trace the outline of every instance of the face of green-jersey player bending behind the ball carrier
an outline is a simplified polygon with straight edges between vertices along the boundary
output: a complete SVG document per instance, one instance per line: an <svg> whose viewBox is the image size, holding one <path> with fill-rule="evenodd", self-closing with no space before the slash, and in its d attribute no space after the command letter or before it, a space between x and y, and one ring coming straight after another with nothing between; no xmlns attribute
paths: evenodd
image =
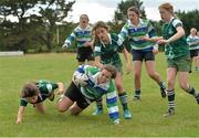
<svg viewBox="0 0 199 138"><path fill-rule="evenodd" d="M106 42L108 40L108 32L105 28L97 28L95 33L101 41Z"/></svg>

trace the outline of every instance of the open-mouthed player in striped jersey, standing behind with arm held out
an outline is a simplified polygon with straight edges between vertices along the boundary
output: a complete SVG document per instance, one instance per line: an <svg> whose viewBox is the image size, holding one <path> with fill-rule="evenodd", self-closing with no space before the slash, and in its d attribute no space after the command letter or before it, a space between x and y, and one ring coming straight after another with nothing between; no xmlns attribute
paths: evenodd
<svg viewBox="0 0 199 138"><path fill-rule="evenodd" d="M70 36L66 38L62 49L66 49L73 41L77 44L76 60L82 65L87 60L88 64L93 64L93 43L92 43L92 26L88 24L87 14L81 14L80 24L74 29Z"/></svg>

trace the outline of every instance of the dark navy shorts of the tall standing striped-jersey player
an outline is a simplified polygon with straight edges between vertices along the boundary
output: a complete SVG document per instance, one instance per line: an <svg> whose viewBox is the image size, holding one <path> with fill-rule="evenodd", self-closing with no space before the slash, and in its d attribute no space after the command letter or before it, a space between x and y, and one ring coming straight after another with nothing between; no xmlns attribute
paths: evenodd
<svg viewBox="0 0 199 138"><path fill-rule="evenodd" d="M132 50L133 61L155 61L153 51Z"/></svg>

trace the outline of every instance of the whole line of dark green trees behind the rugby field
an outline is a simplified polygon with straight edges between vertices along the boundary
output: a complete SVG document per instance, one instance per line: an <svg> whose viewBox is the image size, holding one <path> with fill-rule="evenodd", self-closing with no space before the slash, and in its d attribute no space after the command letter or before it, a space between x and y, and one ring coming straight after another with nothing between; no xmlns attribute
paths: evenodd
<svg viewBox="0 0 199 138"><path fill-rule="evenodd" d="M73 10L74 1L69 0L1 0L0 1L0 51L23 51L25 53L61 52L65 36L77 25L64 21ZM111 31L118 33L126 22L129 6L140 10L146 18L142 0L125 0L117 4ZM157 6L158 7L158 6ZM97 13L96 13L97 14ZM199 29L199 10L177 11L184 22L187 35L195 26ZM9 17L17 19L11 21ZM151 21L157 34L161 35L161 21ZM59 33L59 36L57 36ZM59 39L59 40L57 40ZM69 51L75 49L75 43Z"/></svg>

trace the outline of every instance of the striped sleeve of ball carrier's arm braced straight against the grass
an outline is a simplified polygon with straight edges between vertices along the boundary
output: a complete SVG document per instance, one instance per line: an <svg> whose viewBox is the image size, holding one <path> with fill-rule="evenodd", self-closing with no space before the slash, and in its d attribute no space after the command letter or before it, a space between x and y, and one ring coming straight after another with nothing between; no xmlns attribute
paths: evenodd
<svg viewBox="0 0 199 138"><path fill-rule="evenodd" d="M106 94L106 105L112 121L118 119L117 93L113 81L111 81L108 92Z"/></svg>

